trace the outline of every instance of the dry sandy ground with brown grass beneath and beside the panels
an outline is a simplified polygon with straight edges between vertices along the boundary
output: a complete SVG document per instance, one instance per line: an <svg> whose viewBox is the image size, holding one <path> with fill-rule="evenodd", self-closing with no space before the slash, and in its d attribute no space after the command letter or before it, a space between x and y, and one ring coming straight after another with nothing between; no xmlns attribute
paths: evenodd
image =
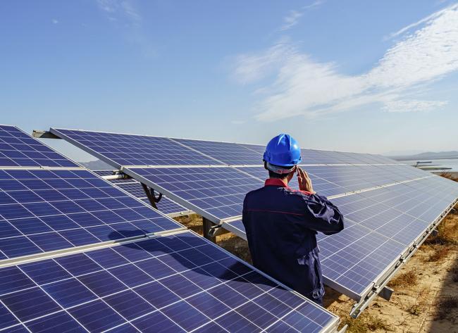
<svg viewBox="0 0 458 333"><path fill-rule="evenodd" d="M202 234L202 218L176 218ZM374 299L357 320L349 318L354 301L326 288L324 305L340 316L347 332L458 333L458 205L388 284L390 301ZM218 245L251 262L247 242L233 234L217 237Z"/></svg>

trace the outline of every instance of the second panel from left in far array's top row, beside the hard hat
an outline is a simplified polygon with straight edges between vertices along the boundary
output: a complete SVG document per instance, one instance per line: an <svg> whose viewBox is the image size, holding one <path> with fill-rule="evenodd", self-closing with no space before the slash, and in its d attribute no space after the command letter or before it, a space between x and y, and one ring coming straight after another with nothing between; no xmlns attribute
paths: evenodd
<svg viewBox="0 0 458 333"><path fill-rule="evenodd" d="M262 154L245 148L242 144L190 139L173 140L229 165L259 165L263 163Z"/></svg>

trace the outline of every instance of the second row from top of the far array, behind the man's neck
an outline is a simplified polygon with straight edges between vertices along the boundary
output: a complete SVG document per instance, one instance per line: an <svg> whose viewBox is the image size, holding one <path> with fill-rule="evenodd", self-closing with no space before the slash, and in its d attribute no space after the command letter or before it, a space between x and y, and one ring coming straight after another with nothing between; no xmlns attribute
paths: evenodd
<svg viewBox="0 0 458 333"><path fill-rule="evenodd" d="M314 190L336 196L381 185L429 177L428 172L407 165L322 165L305 168ZM262 187L268 172L262 167L127 168L132 178L159 191L166 190L182 206L207 214L213 222L242 214L245 194ZM140 179L141 178L141 179ZM290 187L297 189L297 178ZM191 206L192 205L192 206Z"/></svg>

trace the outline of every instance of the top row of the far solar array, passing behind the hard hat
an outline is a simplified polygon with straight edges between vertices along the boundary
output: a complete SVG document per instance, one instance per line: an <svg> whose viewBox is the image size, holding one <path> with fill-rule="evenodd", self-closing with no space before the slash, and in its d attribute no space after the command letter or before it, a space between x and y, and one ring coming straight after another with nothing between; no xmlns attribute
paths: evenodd
<svg viewBox="0 0 458 333"><path fill-rule="evenodd" d="M51 128L106 163L121 165L262 165L265 146ZM304 164L399 164L368 153L302 149Z"/></svg>

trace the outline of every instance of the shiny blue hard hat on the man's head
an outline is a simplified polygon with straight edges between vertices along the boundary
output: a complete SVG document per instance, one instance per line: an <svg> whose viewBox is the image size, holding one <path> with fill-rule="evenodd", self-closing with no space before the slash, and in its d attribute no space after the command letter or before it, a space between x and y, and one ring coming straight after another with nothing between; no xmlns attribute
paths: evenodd
<svg viewBox="0 0 458 333"><path fill-rule="evenodd" d="M264 161L273 165L292 167L302 161L299 144L290 134L279 134L268 142Z"/></svg>

